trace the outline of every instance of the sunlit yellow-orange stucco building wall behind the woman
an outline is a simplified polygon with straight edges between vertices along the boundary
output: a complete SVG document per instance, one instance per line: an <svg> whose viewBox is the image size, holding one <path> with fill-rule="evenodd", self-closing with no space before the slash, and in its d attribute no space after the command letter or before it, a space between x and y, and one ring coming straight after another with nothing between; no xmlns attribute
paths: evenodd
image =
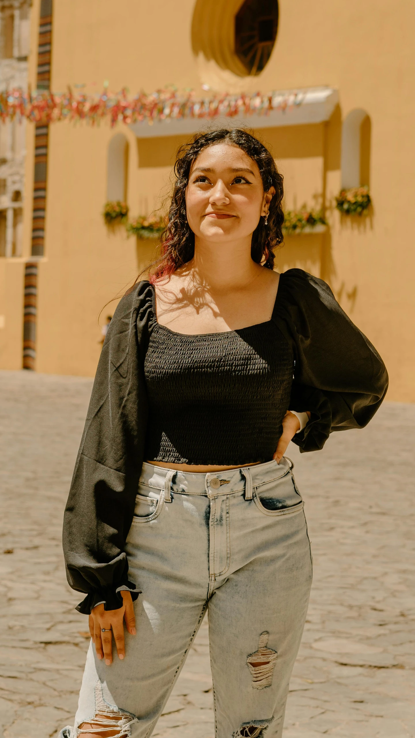
<svg viewBox="0 0 415 738"><path fill-rule="evenodd" d="M216 0L220 5L225 0ZM38 15L36 0L33 17ZM389 399L415 401L415 256L411 246L414 201L415 4L412 0L280 0L278 38L261 75L242 80L196 58L191 46L193 0L55 0L52 88L86 83L98 92L128 86L151 92L167 83L179 89L210 75L223 89L248 91L327 84L340 106L328 123L258 131L274 152L286 182L287 207L324 196L330 229L287 238L278 268L301 266L326 279L351 319L385 359ZM35 33L35 31L34 31ZM35 55L31 56L34 80ZM222 76L221 76L222 75ZM371 118L370 184L374 210L361 221L333 210L340 189L341 123L354 108ZM254 124L254 119L253 119ZM30 205L31 126L27 126ZM129 142L131 215L157 207L166 193L174 151L182 137L140 139L129 128L56 124L49 143L46 256L39 264L40 371L92 375L100 351L97 317L137 272L134 239L111 234L101 218L106 199L106 150L122 131ZM25 209L25 254L30 252L30 207ZM150 247L151 249L151 247ZM140 246L143 265L148 246ZM0 260L0 365L21 365L23 266ZM10 261L10 260L8 260ZM12 276L13 274L13 276ZM13 281L14 280L14 281ZM13 296L5 291L13 287ZM114 309L105 308L106 314Z"/></svg>

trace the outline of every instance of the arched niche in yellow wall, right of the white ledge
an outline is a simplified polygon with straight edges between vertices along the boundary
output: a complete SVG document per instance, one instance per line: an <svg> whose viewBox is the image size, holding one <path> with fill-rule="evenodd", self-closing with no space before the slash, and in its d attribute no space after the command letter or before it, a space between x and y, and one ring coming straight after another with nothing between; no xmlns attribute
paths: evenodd
<svg viewBox="0 0 415 738"><path fill-rule="evenodd" d="M370 184L371 120L366 110L356 108L343 121L341 143L341 184L360 187Z"/></svg>

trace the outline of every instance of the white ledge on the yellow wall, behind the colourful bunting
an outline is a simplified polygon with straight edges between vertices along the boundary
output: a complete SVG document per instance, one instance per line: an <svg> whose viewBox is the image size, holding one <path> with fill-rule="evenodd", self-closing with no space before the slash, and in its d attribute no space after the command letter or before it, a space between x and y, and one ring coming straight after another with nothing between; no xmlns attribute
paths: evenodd
<svg viewBox="0 0 415 738"><path fill-rule="evenodd" d="M230 97L233 97L230 95ZM239 97L235 95L235 97ZM272 93L272 105L278 106L287 101L285 109L276 108L268 114L253 113L235 117L218 116L214 118L166 118L156 120L152 125L147 120L130 123L129 127L137 138L157 136L180 136L194 134L212 125L215 128L275 128L281 125L306 125L307 123L323 123L329 120L338 102L338 92L332 87L309 87L307 89L282 90ZM292 100L290 104L290 100Z"/></svg>

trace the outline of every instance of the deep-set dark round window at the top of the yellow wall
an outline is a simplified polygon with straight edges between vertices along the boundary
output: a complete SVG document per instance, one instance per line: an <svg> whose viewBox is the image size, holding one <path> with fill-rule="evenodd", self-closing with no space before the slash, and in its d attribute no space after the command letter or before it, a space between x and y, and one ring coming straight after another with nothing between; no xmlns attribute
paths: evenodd
<svg viewBox="0 0 415 738"><path fill-rule="evenodd" d="M193 53L238 77L267 64L278 27L278 0L196 0Z"/></svg>

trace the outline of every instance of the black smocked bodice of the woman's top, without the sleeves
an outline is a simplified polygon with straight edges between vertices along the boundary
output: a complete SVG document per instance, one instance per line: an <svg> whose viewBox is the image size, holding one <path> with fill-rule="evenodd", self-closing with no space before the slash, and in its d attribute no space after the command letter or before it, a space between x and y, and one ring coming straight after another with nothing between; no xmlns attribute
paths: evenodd
<svg viewBox="0 0 415 738"><path fill-rule="evenodd" d="M144 361L145 458L229 466L270 461L293 371L292 346L272 320L196 335L154 322Z"/></svg>

